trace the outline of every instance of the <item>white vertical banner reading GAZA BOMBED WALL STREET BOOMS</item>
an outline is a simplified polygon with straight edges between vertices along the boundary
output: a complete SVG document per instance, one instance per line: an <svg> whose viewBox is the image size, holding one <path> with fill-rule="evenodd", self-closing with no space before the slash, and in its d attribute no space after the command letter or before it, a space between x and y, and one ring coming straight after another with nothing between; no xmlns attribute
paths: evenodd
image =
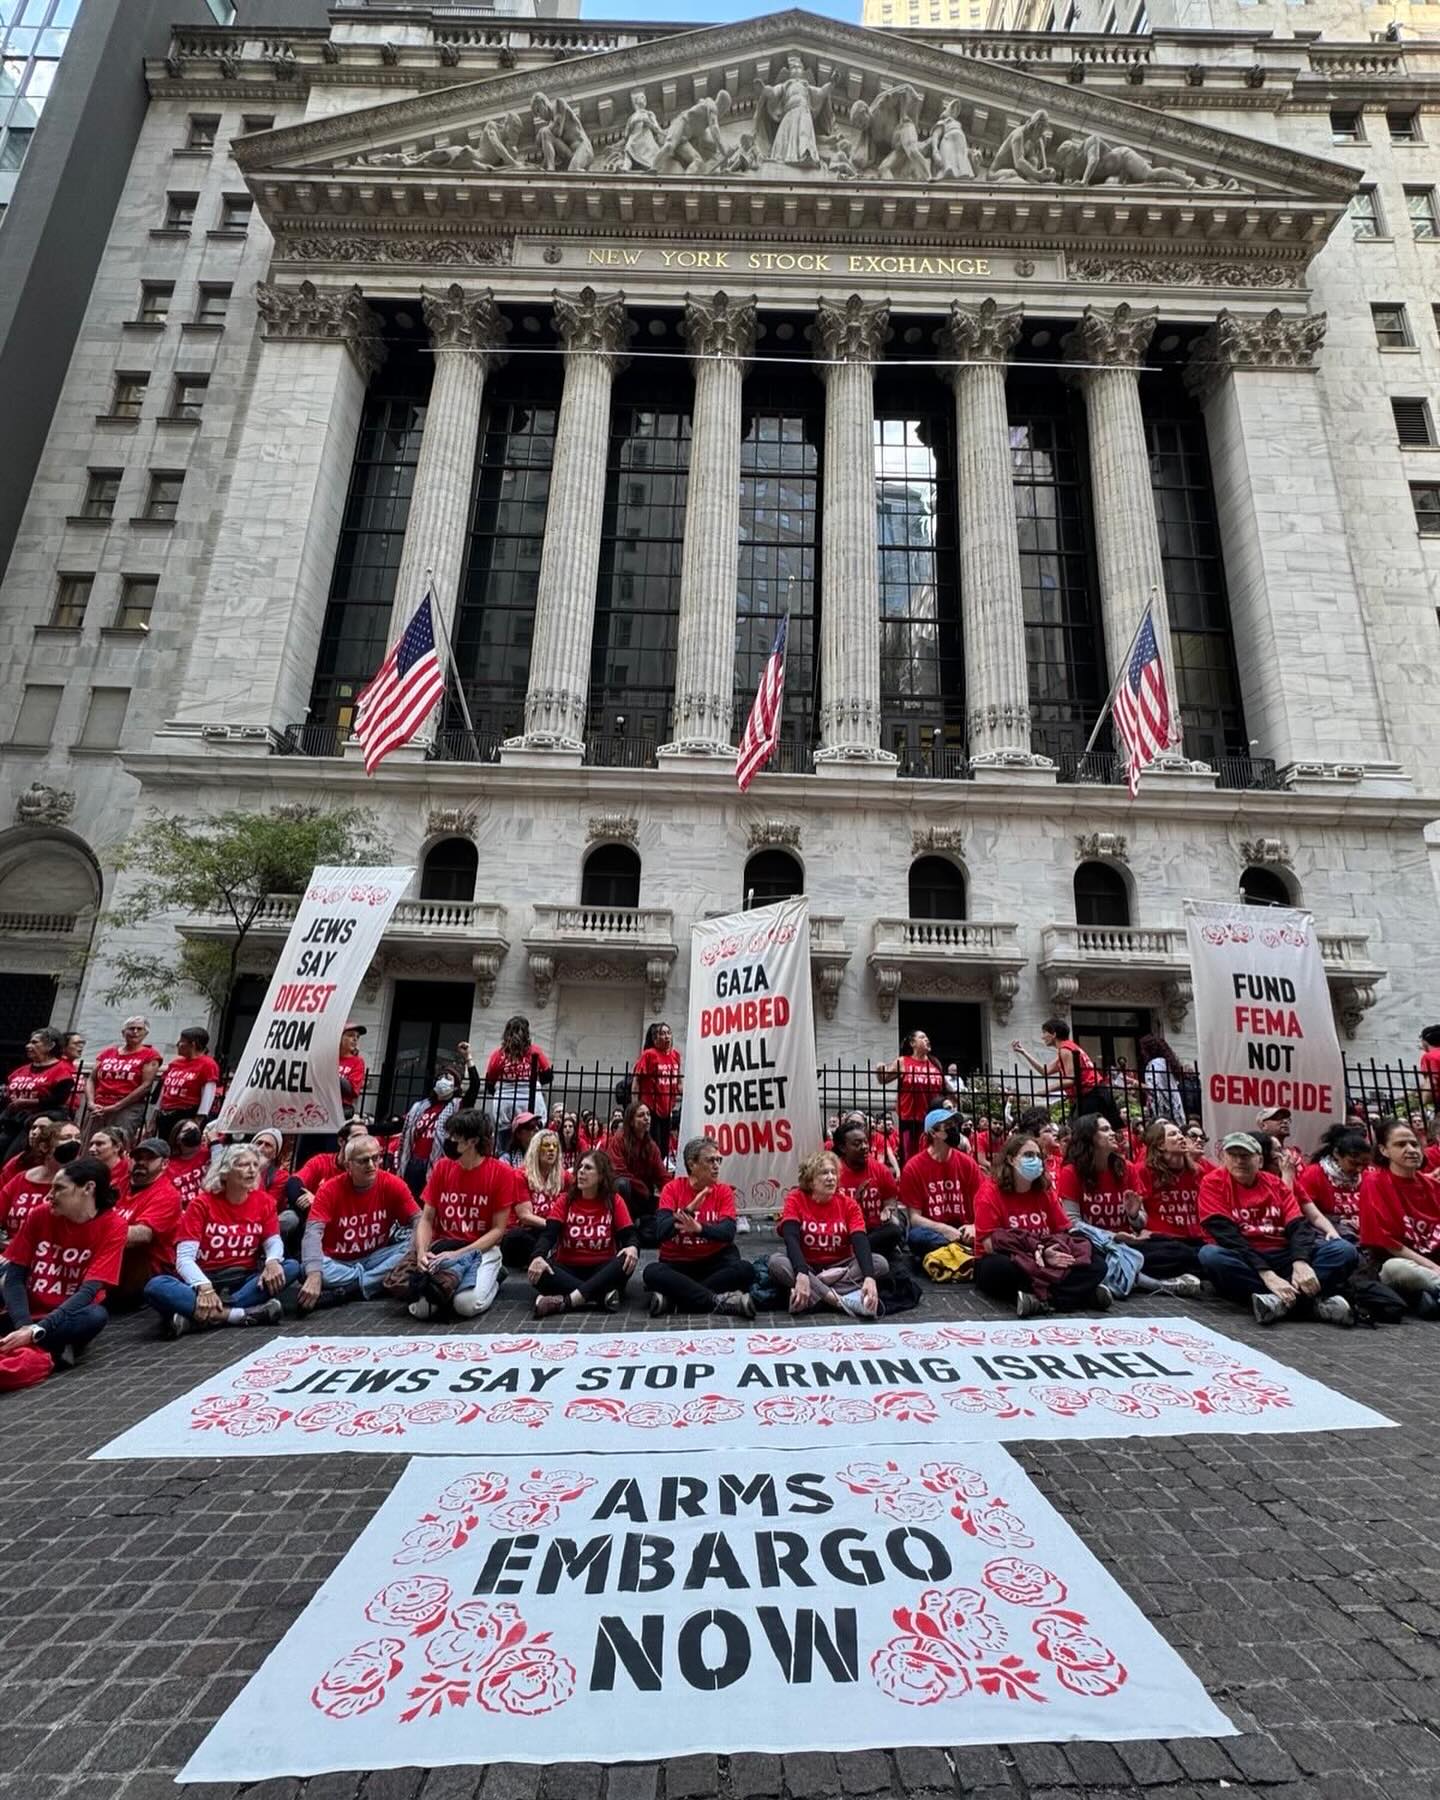
<svg viewBox="0 0 1440 1800"><path fill-rule="evenodd" d="M700 1136L745 1211L776 1206L821 1145L805 898L691 927L680 1143Z"/></svg>

